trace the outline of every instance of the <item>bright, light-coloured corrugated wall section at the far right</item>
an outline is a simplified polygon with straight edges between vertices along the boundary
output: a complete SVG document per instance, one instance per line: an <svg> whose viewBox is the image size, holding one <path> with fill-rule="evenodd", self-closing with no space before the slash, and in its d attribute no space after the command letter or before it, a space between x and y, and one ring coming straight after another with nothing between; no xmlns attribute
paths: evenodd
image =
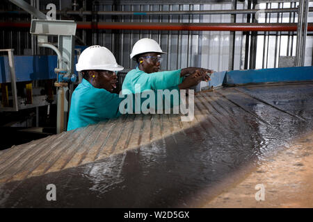
<svg viewBox="0 0 313 222"><path fill-rule="evenodd" d="M297 8L296 1L259 3L260 9L265 8ZM313 2L309 3L313 7ZM261 13L259 23L294 23L298 22L297 13ZM313 12L309 12L307 22L313 22ZM257 69L278 67L280 56L296 56L296 32L258 32L257 34L256 67ZM313 51L312 32L307 33L305 47L305 66L312 65Z"/></svg>

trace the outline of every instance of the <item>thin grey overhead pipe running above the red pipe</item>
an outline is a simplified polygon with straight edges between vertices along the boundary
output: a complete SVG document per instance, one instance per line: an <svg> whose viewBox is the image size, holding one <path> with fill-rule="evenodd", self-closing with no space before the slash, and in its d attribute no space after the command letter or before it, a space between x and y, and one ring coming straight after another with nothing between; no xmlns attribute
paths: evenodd
<svg viewBox="0 0 313 222"><path fill-rule="evenodd" d="M42 10L47 12L48 10ZM309 8L313 12L313 7ZM57 10L58 15L237 15L255 14L260 9L236 9L236 10L186 10L186 11L90 11L90 10ZM262 9L262 13L289 13L298 12L298 8L268 8ZM24 10L7 11L0 10L0 13L19 14L27 13Z"/></svg>

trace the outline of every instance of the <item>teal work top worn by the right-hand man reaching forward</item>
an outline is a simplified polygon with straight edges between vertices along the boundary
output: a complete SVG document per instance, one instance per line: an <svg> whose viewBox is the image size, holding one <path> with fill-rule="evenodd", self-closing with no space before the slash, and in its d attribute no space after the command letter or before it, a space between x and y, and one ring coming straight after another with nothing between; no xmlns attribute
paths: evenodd
<svg viewBox="0 0 313 222"><path fill-rule="evenodd" d="M145 90L170 89L182 83L181 69L174 71L159 71L147 74L138 67L129 71L122 85L122 94L138 93L136 84L140 84L140 92Z"/></svg>

